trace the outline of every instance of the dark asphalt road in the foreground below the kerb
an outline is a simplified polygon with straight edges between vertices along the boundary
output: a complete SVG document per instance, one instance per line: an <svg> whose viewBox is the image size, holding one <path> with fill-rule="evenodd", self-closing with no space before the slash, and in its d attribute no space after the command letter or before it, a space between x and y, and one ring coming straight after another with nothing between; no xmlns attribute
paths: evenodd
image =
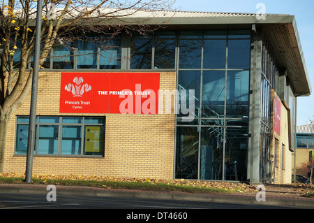
<svg viewBox="0 0 314 223"><path fill-rule="evenodd" d="M47 201L46 194L0 193L0 210L3 209L280 209L285 207L213 203L198 201L168 201L103 196L58 195L57 201Z"/></svg>

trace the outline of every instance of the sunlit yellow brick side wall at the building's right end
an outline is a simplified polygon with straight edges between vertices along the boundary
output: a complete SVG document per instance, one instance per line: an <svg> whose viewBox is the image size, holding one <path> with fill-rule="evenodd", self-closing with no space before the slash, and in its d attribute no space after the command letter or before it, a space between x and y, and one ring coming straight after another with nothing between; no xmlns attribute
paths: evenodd
<svg viewBox="0 0 314 223"><path fill-rule="evenodd" d="M291 175L292 175L292 152L289 150L289 129L288 129L288 110L281 101L281 131L280 135L274 131L274 96L278 95L274 91L271 90L271 161L275 161L275 143L278 143L278 164L274 166L272 164L272 175L273 179L275 179L274 183L278 184L288 184L291 183ZM278 141L276 141L276 139ZM282 145L285 145L285 159L284 159L284 168L283 168L283 159L282 159Z"/></svg>

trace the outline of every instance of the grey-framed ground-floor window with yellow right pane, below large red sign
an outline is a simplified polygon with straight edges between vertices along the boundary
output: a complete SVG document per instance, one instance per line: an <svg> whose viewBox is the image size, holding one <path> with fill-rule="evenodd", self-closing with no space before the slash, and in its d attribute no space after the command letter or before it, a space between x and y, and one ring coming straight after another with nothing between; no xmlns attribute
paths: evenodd
<svg viewBox="0 0 314 223"><path fill-rule="evenodd" d="M15 154L26 154L29 117L17 116ZM105 117L36 117L34 154L104 155Z"/></svg>

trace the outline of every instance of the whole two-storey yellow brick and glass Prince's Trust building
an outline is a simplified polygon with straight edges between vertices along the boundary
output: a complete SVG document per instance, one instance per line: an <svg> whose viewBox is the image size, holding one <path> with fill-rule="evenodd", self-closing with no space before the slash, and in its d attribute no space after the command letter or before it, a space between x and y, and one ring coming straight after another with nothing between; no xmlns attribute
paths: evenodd
<svg viewBox="0 0 314 223"><path fill-rule="evenodd" d="M294 16L168 13L110 49L53 48L33 173L291 182L297 96L311 94ZM8 124L4 172L25 170L29 104Z"/></svg>

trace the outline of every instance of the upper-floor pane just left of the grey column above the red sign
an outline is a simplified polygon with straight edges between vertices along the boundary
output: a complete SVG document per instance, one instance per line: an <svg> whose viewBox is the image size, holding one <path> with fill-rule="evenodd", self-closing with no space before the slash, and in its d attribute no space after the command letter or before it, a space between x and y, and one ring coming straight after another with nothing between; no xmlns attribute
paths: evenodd
<svg viewBox="0 0 314 223"><path fill-rule="evenodd" d="M100 45L100 69L121 69L121 40L107 40Z"/></svg>

